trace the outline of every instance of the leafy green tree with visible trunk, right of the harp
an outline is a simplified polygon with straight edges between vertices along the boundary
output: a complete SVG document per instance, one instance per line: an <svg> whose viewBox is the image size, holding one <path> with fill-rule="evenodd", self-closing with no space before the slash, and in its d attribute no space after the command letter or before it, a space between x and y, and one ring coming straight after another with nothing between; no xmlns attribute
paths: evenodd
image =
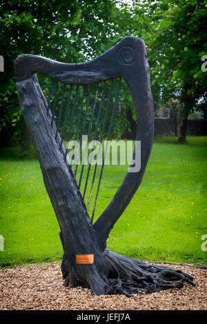
<svg viewBox="0 0 207 324"><path fill-rule="evenodd" d="M158 94L162 105L179 100L183 117L179 143L184 143L188 114L194 108L207 109L206 72L201 70L201 58L207 53L206 1L145 1L145 6L151 20L145 39L153 97Z"/></svg>

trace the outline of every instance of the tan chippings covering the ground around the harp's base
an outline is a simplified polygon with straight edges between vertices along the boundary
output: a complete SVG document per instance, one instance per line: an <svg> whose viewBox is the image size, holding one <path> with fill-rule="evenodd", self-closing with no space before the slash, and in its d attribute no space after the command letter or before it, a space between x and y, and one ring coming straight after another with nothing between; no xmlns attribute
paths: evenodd
<svg viewBox="0 0 207 324"><path fill-rule="evenodd" d="M165 264L166 265L166 264ZM96 296L90 290L63 287L59 264L30 265L0 271L0 310L207 310L207 270L190 265L167 265L194 277L152 294Z"/></svg>

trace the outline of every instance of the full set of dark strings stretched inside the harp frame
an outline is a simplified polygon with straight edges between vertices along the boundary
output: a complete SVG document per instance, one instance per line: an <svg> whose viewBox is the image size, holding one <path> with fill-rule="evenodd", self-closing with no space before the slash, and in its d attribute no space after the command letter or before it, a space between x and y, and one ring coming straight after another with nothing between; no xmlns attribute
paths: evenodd
<svg viewBox="0 0 207 324"><path fill-rule="evenodd" d="M51 125L57 128L55 137L58 134L61 137L59 149L64 145L64 159L77 181L91 221L95 216L108 150L108 145L105 152L101 144L103 139L110 140L120 105L120 86L121 78L92 85L66 85L54 79L50 83L48 115L50 110Z"/></svg>

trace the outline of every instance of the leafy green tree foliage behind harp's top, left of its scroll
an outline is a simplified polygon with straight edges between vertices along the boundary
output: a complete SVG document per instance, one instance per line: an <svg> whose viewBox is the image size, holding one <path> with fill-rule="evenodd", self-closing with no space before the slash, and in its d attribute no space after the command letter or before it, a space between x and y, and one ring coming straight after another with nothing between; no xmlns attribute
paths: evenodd
<svg viewBox="0 0 207 324"><path fill-rule="evenodd" d="M39 54L63 62L85 61L116 41L119 9L114 0L1 1L0 131L3 145L26 145L25 123L17 100L14 60L19 54ZM124 20L124 19L123 19ZM47 85L49 86L49 85Z"/></svg>

